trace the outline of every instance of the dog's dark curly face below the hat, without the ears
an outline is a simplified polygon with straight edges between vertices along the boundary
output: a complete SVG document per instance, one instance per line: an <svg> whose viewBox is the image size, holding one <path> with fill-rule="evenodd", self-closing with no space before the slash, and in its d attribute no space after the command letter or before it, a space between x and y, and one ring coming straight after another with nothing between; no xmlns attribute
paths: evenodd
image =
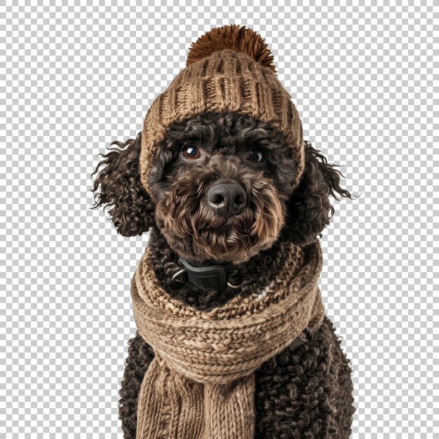
<svg viewBox="0 0 439 439"><path fill-rule="evenodd" d="M295 154L250 116L205 114L170 127L149 177L156 224L197 261L245 262L285 224Z"/></svg>

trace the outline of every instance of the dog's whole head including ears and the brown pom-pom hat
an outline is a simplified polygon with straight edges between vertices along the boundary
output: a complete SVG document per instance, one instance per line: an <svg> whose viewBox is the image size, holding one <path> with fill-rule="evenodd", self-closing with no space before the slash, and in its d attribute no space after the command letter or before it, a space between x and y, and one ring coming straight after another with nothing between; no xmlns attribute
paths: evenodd
<svg viewBox="0 0 439 439"><path fill-rule="evenodd" d="M262 37L226 25L201 36L135 140L97 166L95 206L119 233L156 224L197 262L245 262L278 238L310 243L329 224L329 196L351 196L302 137L290 93ZM337 198L338 199L338 198Z"/></svg>

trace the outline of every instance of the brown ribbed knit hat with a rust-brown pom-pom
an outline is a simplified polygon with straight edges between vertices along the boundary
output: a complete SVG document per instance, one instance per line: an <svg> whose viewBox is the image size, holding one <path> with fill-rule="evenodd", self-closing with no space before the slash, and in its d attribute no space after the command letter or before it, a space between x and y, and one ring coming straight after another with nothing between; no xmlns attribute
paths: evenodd
<svg viewBox="0 0 439 439"><path fill-rule="evenodd" d="M208 111L250 115L280 130L295 151L292 188L299 183L304 171L302 122L272 61L264 39L245 26L216 27L191 44L187 67L156 97L144 118L140 176L151 198L148 178L166 128Z"/></svg>

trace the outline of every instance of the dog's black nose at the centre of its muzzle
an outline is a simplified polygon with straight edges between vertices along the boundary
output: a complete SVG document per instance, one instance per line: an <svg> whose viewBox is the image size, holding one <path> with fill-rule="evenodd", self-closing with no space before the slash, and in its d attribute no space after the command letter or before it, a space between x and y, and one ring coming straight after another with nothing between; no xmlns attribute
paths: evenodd
<svg viewBox="0 0 439 439"><path fill-rule="evenodd" d="M225 219L243 210L247 194L238 183L220 183L212 186L207 193L210 207Z"/></svg>

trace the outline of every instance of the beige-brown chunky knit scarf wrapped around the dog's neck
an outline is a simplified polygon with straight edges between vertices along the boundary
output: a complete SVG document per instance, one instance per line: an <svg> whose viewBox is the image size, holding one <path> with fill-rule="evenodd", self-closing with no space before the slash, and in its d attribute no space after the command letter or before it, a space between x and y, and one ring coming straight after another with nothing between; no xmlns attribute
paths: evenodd
<svg viewBox="0 0 439 439"><path fill-rule="evenodd" d="M170 297L150 256L147 247L131 283L137 330L155 353L140 388L136 438L254 438L255 370L323 320L320 243L291 245L265 295L235 296L209 312Z"/></svg>

